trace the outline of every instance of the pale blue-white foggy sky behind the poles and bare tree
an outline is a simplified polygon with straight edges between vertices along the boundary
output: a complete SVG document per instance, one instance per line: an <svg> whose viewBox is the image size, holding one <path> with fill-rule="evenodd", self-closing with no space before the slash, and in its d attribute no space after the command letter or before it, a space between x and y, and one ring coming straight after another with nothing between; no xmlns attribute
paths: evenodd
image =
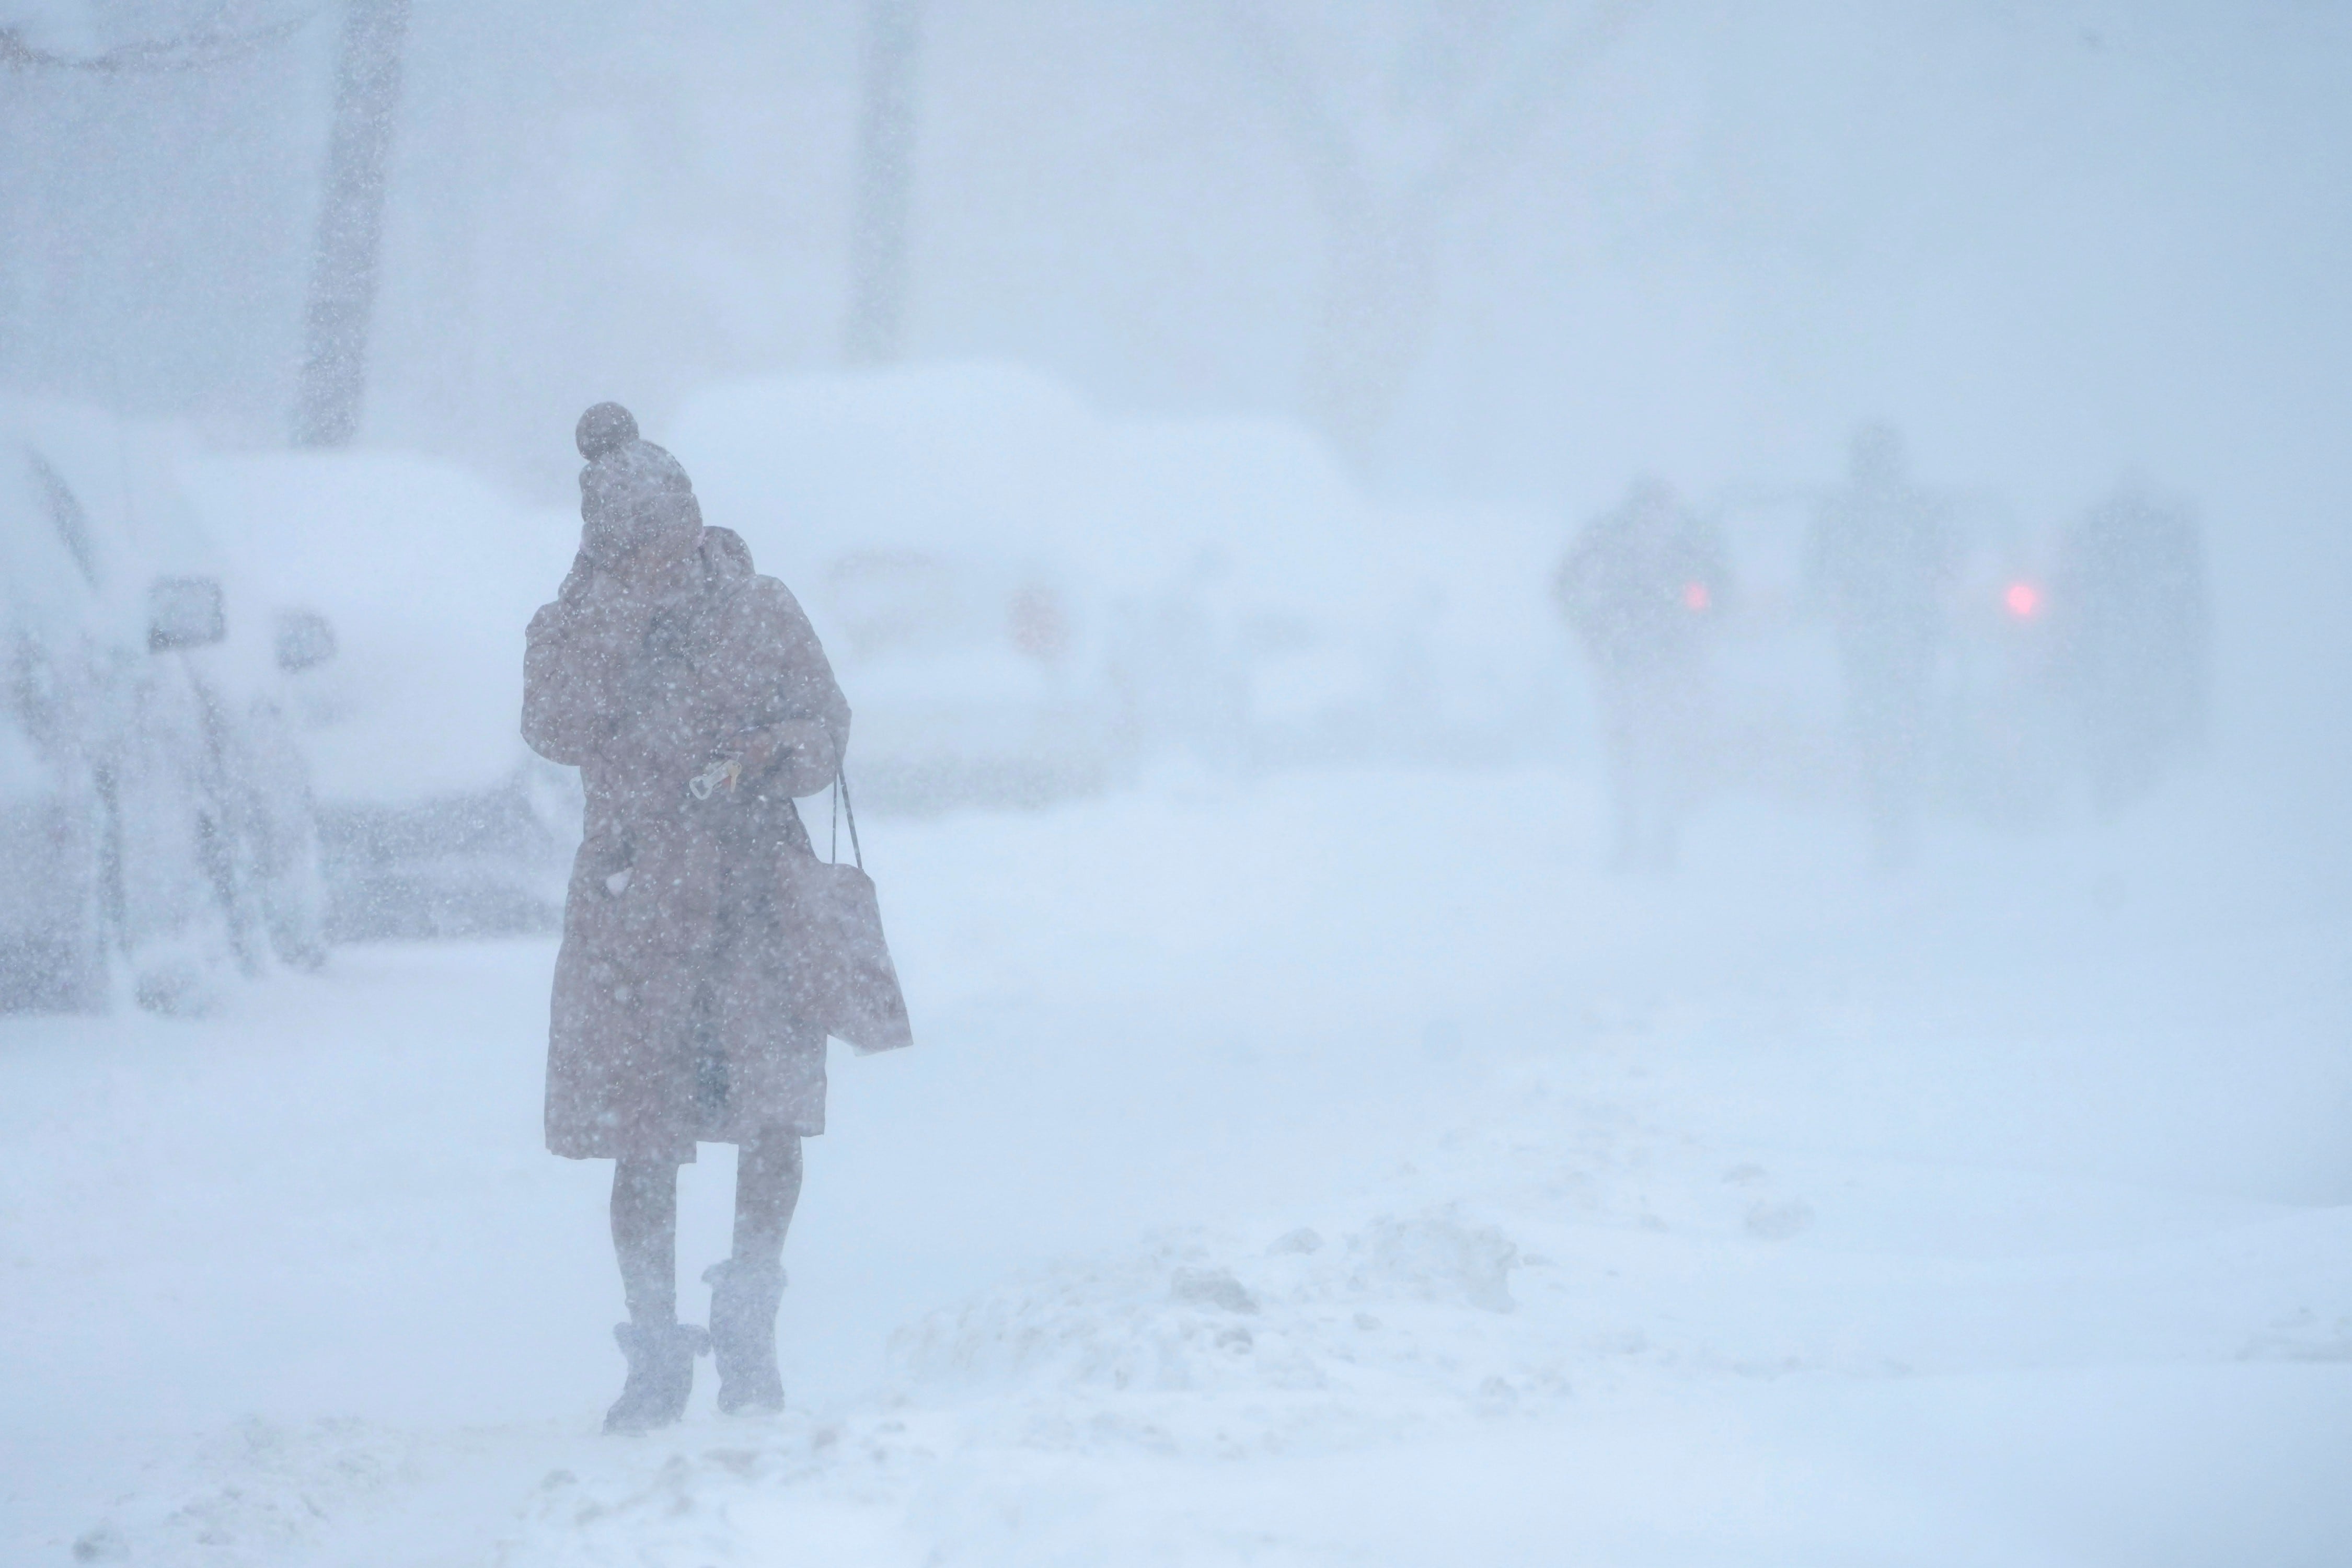
<svg viewBox="0 0 2352 1568"><path fill-rule="evenodd" d="M1336 244L1237 19L1275 28L1378 190L1592 9L931 0L910 357L1028 362L1112 409L1308 411ZM2277 736L2303 715L2340 759L2310 715L2352 696L2345 12L1632 12L1444 205L1364 477L1573 517L1635 470L1828 477L1863 416L2037 520L2140 468L2220 541L2232 708ZM87 49L301 9L0 14ZM717 376L835 364L858 24L851 0L416 0L367 440L560 496L593 397L659 430ZM332 47L327 12L202 73L0 75L0 376L282 440Z"/></svg>

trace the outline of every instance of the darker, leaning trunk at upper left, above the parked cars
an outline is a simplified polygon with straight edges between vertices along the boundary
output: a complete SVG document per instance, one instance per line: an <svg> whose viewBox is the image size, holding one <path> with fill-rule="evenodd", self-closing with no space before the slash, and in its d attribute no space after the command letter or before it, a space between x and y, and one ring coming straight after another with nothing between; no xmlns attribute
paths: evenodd
<svg viewBox="0 0 2352 1568"><path fill-rule="evenodd" d="M383 249L383 162L393 143L400 49L409 31L409 0L348 0L348 7L294 404L299 447L341 447L360 428L367 322Z"/></svg>

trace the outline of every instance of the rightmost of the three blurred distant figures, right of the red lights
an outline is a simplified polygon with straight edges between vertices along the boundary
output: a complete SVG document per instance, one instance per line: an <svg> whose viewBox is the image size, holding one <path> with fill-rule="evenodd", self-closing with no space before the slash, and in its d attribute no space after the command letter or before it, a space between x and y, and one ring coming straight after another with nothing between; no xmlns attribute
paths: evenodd
<svg viewBox="0 0 2352 1568"><path fill-rule="evenodd" d="M2124 484L2058 541L2058 684L2112 818L2204 738L2204 541L2187 508Z"/></svg>

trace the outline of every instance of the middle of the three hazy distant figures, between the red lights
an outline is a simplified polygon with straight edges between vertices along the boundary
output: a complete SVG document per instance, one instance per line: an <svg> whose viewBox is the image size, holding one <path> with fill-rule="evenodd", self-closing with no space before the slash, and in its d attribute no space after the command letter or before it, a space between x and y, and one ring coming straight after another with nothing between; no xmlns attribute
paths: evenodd
<svg viewBox="0 0 2352 1568"><path fill-rule="evenodd" d="M1919 835L1959 550L1945 505L1910 482L1900 435L1863 425L1851 463L1813 522L1811 576L1837 632L1872 858L1893 870Z"/></svg>

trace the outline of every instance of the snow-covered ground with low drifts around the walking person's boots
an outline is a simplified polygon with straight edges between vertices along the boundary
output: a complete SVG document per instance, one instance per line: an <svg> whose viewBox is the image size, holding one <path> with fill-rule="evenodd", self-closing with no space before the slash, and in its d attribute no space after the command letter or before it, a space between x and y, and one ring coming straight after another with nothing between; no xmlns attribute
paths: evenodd
<svg viewBox="0 0 2352 1568"><path fill-rule="evenodd" d="M652 1439L550 943L0 1023L0 1561L2347 1561L2340 898L2194 792L1891 884L1740 811L1616 882L1597 818L873 823L922 1046L835 1060L793 1410L706 1363Z"/></svg>

